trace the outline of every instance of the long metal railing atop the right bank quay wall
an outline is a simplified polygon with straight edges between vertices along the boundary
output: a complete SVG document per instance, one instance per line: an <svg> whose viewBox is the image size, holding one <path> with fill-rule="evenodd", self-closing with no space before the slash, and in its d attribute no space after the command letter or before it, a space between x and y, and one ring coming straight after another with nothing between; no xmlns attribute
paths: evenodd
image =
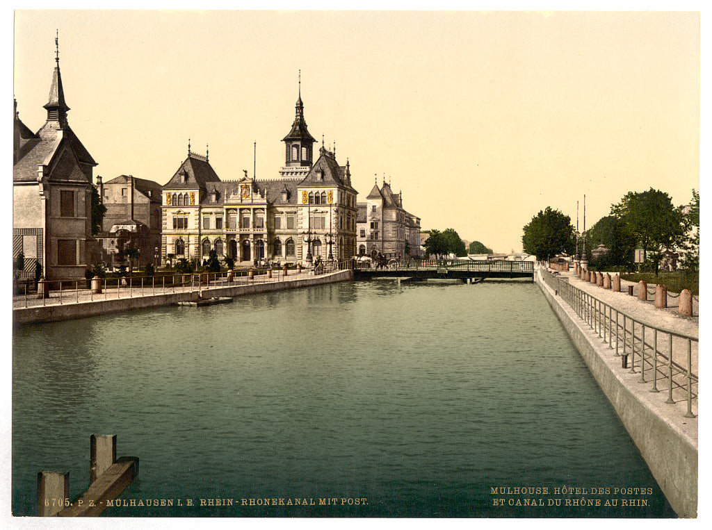
<svg viewBox="0 0 712 530"><path fill-rule="evenodd" d="M643 322L571 285L567 278L543 268L538 272L556 295L621 357L622 369L640 373L639 383L652 383L651 392L666 391L665 403L686 399L685 418L696 417L692 402L697 402L698 376L693 373L692 359L693 352L696 357L699 353L698 337ZM658 388L659 384L666 388Z"/></svg>

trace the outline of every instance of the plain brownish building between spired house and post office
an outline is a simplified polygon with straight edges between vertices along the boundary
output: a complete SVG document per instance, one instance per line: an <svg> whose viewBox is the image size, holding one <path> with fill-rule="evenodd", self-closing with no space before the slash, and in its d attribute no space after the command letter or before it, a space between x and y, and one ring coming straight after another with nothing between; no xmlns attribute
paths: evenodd
<svg viewBox="0 0 712 530"><path fill-rule="evenodd" d="M97 189L106 207L104 221L96 238L101 260L110 267L121 265L120 250L135 248L140 257L134 265L160 264L161 186L157 182L120 175L103 182L96 177Z"/></svg>

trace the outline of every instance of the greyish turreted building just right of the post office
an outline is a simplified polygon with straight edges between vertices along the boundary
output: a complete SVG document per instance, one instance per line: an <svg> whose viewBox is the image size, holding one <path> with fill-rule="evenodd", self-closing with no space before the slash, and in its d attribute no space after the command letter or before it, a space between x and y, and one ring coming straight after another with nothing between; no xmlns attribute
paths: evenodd
<svg viewBox="0 0 712 530"><path fill-rule="evenodd" d="M374 184L365 202L358 203L357 253L375 259L419 257L420 219L403 208L402 194L390 184Z"/></svg>

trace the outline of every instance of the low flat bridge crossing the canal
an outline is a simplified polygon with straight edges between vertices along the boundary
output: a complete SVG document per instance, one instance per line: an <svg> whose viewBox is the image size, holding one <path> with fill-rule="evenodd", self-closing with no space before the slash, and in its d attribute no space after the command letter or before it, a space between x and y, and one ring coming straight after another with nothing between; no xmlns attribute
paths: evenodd
<svg viewBox="0 0 712 530"><path fill-rule="evenodd" d="M354 280L373 277L400 277L414 280L472 280L481 282L488 278L525 278L534 281L534 262L507 260L390 260L389 265L377 267L370 263L357 263Z"/></svg>

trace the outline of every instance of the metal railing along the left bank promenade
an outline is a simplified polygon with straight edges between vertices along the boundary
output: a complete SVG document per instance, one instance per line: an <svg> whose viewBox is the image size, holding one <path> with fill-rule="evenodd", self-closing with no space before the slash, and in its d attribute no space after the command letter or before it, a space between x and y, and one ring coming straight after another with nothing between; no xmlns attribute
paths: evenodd
<svg viewBox="0 0 712 530"><path fill-rule="evenodd" d="M23 292L13 297L13 307L98 302L144 296L166 295L176 292L202 292L214 287L232 287L289 280L296 275L322 275L352 268L350 260L323 261L318 267L255 268L223 272L167 273L148 277L111 277L83 280L45 280L38 282L36 290L22 286ZM44 285L42 285L44 284ZM42 295L41 293L45 293Z"/></svg>

